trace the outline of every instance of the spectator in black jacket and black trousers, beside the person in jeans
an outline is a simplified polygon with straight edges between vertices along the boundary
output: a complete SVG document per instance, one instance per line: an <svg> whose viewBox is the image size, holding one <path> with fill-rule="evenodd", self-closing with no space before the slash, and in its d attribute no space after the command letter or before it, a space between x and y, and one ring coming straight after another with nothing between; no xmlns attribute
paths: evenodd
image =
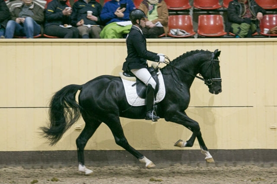
<svg viewBox="0 0 277 184"><path fill-rule="evenodd" d="M59 38L79 38L76 27L70 26L71 7L66 0L52 0L48 3L45 13L44 33Z"/></svg>

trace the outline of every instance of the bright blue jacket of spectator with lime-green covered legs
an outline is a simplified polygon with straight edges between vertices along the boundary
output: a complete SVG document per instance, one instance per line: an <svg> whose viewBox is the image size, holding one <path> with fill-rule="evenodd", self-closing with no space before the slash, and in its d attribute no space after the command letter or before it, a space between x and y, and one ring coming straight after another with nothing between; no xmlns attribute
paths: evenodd
<svg viewBox="0 0 277 184"><path fill-rule="evenodd" d="M119 18L117 17L114 12L118 7L120 7L120 4L126 3L126 10L123 12L124 17ZM100 14L101 21L104 22L105 25L112 23L112 22L122 22L122 21L128 21L129 19L129 13L136 9L133 0L120 0L120 1L107 1L102 9L102 12Z"/></svg>

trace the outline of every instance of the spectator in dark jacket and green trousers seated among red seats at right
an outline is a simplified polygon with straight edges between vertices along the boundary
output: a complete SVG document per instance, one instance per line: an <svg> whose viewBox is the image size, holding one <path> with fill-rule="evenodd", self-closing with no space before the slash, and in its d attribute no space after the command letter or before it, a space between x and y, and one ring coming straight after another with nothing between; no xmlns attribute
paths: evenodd
<svg viewBox="0 0 277 184"><path fill-rule="evenodd" d="M250 38L266 11L255 0L232 0L227 13L230 32L236 38Z"/></svg>

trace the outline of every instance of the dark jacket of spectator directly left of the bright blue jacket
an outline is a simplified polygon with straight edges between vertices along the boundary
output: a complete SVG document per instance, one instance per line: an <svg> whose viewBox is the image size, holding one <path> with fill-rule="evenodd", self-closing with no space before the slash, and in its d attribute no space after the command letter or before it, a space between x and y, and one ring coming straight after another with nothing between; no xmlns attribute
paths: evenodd
<svg viewBox="0 0 277 184"><path fill-rule="evenodd" d="M81 19L84 20L84 24L99 25L100 24L100 13L102 10L101 4L95 0L91 0L89 3L84 0L78 0L74 3L71 14L71 24L76 26L77 22ZM87 11L92 11L92 15L98 18L95 22L87 18Z"/></svg>

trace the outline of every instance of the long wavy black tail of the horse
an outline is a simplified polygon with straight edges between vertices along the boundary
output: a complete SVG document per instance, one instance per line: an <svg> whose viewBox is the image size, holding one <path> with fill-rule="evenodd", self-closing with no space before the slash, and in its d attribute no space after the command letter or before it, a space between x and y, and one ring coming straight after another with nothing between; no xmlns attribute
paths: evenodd
<svg viewBox="0 0 277 184"><path fill-rule="evenodd" d="M62 135L80 118L80 105L75 100L80 85L68 85L56 92L49 109L48 127L41 127L42 136L49 140L50 145L56 144Z"/></svg>

